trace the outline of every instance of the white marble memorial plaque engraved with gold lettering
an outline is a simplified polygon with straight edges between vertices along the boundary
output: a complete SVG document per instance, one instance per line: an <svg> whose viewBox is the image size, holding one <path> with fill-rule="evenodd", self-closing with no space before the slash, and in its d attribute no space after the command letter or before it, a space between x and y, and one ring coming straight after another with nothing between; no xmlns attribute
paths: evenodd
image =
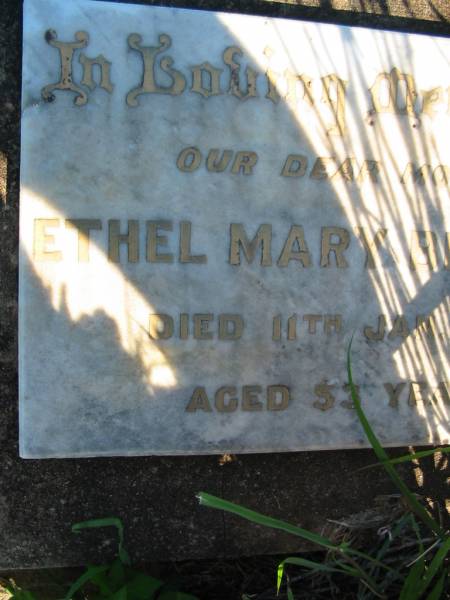
<svg viewBox="0 0 450 600"><path fill-rule="evenodd" d="M450 41L25 0L25 458L449 442Z"/></svg>

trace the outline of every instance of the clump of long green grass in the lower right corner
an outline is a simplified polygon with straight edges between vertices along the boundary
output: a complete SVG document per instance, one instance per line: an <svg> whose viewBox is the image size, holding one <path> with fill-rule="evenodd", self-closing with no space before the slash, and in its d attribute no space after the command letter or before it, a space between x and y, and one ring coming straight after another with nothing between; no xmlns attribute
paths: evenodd
<svg viewBox="0 0 450 600"><path fill-rule="evenodd" d="M420 500L399 477L395 464L416 460L436 452L449 452L450 448L436 448L396 459L390 459L381 446L362 409L353 383L351 368L351 345L347 351L347 373L353 404L366 437L372 446L379 465L384 467L398 488L409 511L391 524L384 539L370 552L362 552L351 542L333 542L331 539L274 519L258 512L228 502L204 492L198 494L200 504L224 510L259 525L279 529L313 542L326 550L325 560L312 561L301 556L291 556L280 562L277 572L277 593L286 581L288 600L294 600L288 565L301 567L300 579L315 575L325 579L329 588L333 578L354 581L353 589L358 600L374 598L398 598L398 600L439 600L444 597L448 579L447 556L450 551L450 534L428 513ZM405 544L405 538L408 543Z"/></svg>

